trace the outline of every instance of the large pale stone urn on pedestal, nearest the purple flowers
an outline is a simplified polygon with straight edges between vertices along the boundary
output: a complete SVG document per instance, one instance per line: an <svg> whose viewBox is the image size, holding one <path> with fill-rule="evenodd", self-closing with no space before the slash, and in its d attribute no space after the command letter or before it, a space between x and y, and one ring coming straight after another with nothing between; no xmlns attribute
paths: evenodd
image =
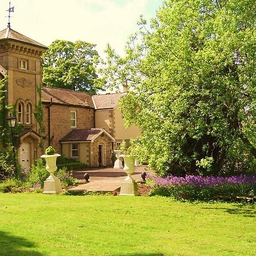
<svg viewBox="0 0 256 256"><path fill-rule="evenodd" d="M138 185L136 181L131 177L135 171L134 160L135 158L131 155L120 155L125 160L125 166L123 171L126 172L127 177L121 184L120 196L138 196Z"/></svg>

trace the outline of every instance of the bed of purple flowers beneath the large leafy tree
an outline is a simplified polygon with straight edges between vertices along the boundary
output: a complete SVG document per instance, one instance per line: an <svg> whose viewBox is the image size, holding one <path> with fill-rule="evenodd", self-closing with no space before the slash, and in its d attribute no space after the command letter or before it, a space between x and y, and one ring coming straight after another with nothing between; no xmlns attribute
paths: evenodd
<svg viewBox="0 0 256 256"><path fill-rule="evenodd" d="M194 176L149 177L150 195L173 196L181 194L191 199L213 200L217 195L254 196L256 176L231 177Z"/></svg>

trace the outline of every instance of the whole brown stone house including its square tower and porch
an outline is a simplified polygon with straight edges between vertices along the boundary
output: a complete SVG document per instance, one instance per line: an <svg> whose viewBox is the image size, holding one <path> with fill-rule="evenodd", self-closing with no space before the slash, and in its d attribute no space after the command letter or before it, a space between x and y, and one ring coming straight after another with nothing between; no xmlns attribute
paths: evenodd
<svg viewBox="0 0 256 256"><path fill-rule="evenodd" d="M138 127L123 126L118 100L125 93L92 96L43 86L40 57L46 50L10 26L0 31L0 76L8 75L7 104L23 127L16 134L19 162L29 168L51 145L88 166L110 166L118 144L140 134ZM40 107L43 119L36 118Z"/></svg>

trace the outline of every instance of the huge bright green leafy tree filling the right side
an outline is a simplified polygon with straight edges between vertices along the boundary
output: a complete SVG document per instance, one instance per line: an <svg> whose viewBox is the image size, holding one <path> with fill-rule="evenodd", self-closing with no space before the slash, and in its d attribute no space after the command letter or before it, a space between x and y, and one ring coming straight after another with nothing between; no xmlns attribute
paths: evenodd
<svg viewBox="0 0 256 256"><path fill-rule="evenodd" d="M255 13L251 0L165 1L125 57L107 49L102 73L130 82L121 109L158 174L255 173Z"/></svg>

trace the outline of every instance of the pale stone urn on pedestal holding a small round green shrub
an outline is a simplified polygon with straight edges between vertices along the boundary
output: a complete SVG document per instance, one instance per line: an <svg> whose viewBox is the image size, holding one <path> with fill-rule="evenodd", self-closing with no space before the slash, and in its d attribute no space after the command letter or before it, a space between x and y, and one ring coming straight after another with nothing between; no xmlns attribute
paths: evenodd
<svg viewBox="0 0 256 256"><path fill-rule="evenodd" d="M49 177L44 181L44 191L46 194L57 194L62 192L60 180L54 175L57 170L56 160L60 154L42 155L41 158L46 159L46 170L49 172Z"/></svg>

